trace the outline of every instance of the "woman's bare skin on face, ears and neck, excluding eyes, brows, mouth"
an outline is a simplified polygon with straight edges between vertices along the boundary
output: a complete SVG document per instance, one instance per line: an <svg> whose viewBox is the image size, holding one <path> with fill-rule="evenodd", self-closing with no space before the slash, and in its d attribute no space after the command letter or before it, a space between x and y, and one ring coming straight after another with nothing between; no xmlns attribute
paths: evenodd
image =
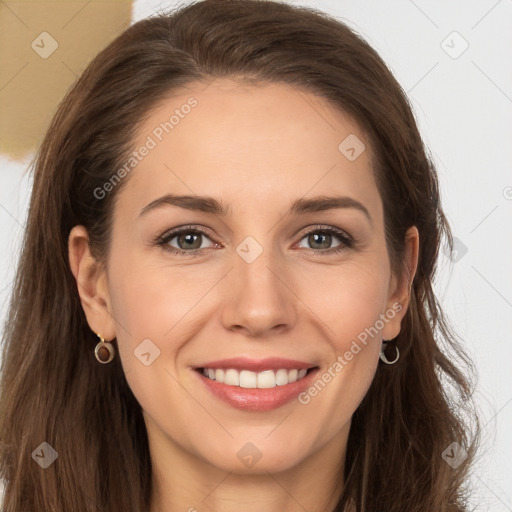
<svg viewBox="0 0 512 512"><path fill-rule="evenodd" d="M404 273L393 275L369 141L346 114L287 85L193 84L151 113L134 148L191 96L197 107L125 178L106 268L91 256L83 226L69 236L88 323L106 340L117 337L116 357L143 409L151 512L332 510L352 415L375 375L382 340L400 331L418 231L407 232ZM354 161L338 149L349 134L366 145ZM229 214L167 205L139 217L165 193L211 196ZM317 195L349 196L371 220L355 208L287 214L294 200ZM201 255L174 255L153 243L187 224L208 236L192 249L176 236L168 245L201 247ZM321 231L312 228L318 224L357 242L322 255L343 242L333 234L315 243L307 234ZM252 263L236 252L247 236L263 250ZM214 398L192 370L247 356L300 359L324 373L397 303L401 311L306 405L240 411ZM146 338L160 350L149 366L133 353ZM252 467L237 457L248 442L261 453Z"/></svg>

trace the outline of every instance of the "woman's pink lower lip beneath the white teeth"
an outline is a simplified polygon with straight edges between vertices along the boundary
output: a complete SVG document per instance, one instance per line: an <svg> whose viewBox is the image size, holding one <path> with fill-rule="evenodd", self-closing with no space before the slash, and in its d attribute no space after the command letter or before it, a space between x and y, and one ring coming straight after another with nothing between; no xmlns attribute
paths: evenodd
<svg viewBox="0 0 512 512"><path fill-rule="evenodd" d="M277 409L278 407L290 402L311 385L311 382L317 372L318 368L315 368L309 371L302 379L290 384L285 384L284 386L248 389L222 384L221 382L205 377L202 372L194 370L194 373L197 374L203 384L217 398L220 398L237 409L256 412Z"/></svg>

